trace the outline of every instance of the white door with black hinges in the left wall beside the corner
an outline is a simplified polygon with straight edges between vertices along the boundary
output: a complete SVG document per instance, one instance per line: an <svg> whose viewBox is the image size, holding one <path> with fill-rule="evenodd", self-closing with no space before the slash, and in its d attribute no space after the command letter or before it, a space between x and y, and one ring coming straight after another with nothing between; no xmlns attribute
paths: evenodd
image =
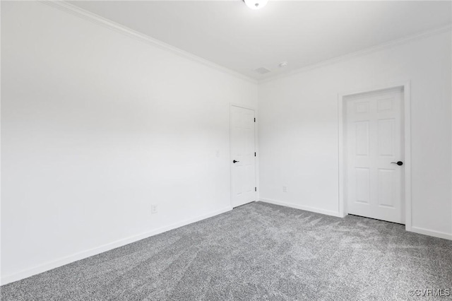
<svg viewBox="0 0 452 301"><path fill-rule="evenodd" d="M231 106L232 207L256 201L254 110Z"/></svg>

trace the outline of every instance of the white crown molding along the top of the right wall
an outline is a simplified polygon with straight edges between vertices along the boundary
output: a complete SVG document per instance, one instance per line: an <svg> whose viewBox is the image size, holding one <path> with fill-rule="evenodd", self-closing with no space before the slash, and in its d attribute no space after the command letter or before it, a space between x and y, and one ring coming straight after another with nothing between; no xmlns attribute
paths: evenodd
<svg viewBox="0 0 452 301"><path fill-rule="evenodd" d="M287 76L293 76L295 74L303 73L303 72L310 71L313 69L317 69L319 67L332 65L332 64L338 63L340 61L347 61L349 59L354 59L355 57L362 57L366 54L371 54L374 52L379 52L383 49L388 49L388 48L395 47L398 45L403 45L407 42L411 42L412 40L418 40L418 39L422 39L424 37L430 37L432 35L438 35L440 33L445 33L449 30L452 30L452 24L449 24L446 26L441 26L440 28L434 28L433 30L427 30L427 31L423 31L421 33L416 33L415 35L409 35L408 37L403 37L398 40L393 40L391 42L386 42L386 43L383 43L380 45L376 45L374 47L369 47L366 49L358 50L357 52L344 54L340 57L333 57L332 59L326 59L325 61L320 61L319 63L303 66L299 69L288 71L287 73L280 73L280 74L277 74L274 76L269 76L268 78L263 78L263 79L259 80L258 83L259 84L268 83L270 81L275 81L280 78L285 78Z"/></svg>

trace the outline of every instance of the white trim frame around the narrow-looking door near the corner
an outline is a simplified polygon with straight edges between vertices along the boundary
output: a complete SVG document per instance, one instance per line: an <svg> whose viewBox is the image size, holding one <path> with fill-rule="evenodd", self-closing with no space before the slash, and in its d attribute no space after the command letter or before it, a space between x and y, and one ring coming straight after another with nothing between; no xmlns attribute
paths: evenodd
<svg viewBox="0 0 452 301"><path fill-rule="evenodd" d="M232 200L232 165L231 165L231 162L232 162L232 155L231 155L231 153L232 153L232 150L231 150L231 146L232 146L232 139L231 139L231 134L232 134L232 132L231 132L231 124L232 124L232 107L241 107L242 109L247 109L247 110L253 110L253 112L254 112L254 118L256 119L256 122L254 122L254 151L256 152L256 156L254 157L254 184L256 185L256 187L259 187L258 186L258 172L259 172L259 167L258 167L258 160L257 160L257 158L258 158L258 155L259 155L259 153L258 153L258 126L256 126L257 125L257 122L258 122L258 118L257 118L257 110L256 110L256 108L254 108L254 107L247 107L246 105L240 105L240 104L238 104L238 103L234 103L234 102L230 102L230 105L229 105L229 161L228 161L228 163L229 163L229 173L230 173L230 176L229 176L229 178L230 178L230 206L231 206L231 209L232 208L234 208L234 203L233 203L233 200ZM254 201L258 201L258 196L259 196L259 191L258 191L258 189L257 189L257 191L254 191Z"/></svg>

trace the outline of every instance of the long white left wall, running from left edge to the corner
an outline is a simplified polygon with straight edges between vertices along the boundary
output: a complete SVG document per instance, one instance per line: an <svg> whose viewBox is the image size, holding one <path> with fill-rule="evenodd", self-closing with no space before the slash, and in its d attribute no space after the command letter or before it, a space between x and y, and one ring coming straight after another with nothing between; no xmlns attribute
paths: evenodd
<svg viewBox="0 0 452 301"><path fill-rule="evenodd" d="M256 107L256 83L1 6L3 283L230 209L229 105Z"/></svg>

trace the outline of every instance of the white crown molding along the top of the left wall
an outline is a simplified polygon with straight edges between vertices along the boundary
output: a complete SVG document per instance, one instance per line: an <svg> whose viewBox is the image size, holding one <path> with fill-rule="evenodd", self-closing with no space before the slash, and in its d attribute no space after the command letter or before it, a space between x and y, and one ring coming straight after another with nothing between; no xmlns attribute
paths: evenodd
<svg viewBox="0 0 452 301"><path fill-rule="evenodd" d="M54 8L57 8L60 11L70 13L71 15L82 18L84 20L88 20L91 23L95 23L95 24L103 26L105 28L109 28L110 30L114 30L117 33L121 33L121 34L131 37L135 40L138 40L140 42L144 42L145 44L167 50L169 52L172 52L173 54L177 54L180 57L184 57L186 59L191 59L191 61L196 61L197 63L203 64L204 66L208 66L217 71L221 71L222 73L226 73L228 75L235 76L244 81L249 81L250 83L258 83L258 81L254 78L244 76L242 73L238 73L238 72L228 69L224 66L215 64L212 61L208 61L206 59L196 56L195 54L191 54L190 52L186 52L177 47L168 45L165 42L154 39L153 37L150 37L143 33L138 33L138 31L136 31L136 30L128 28L124 25L116 23L107 18L103 18L95 13L91 13L90 11L86 11L85 9L75 6L73 4L69 4L66 1L63 1L63 0L38 0L38 2L40 2L42 4L46 4L48 6L52 6Z"/></svg>

